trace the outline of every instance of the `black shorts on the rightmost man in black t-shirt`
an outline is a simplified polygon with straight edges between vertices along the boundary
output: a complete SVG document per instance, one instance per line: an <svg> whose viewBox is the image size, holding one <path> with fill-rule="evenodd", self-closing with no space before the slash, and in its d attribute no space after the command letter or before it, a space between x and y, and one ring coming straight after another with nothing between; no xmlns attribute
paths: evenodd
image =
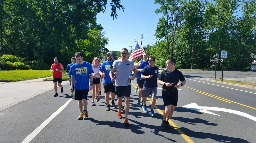
<svg viewBox="0 0 256 143"><path fill-rule="evenodd" d="M173 105L177 106L178 104L178 93L167 93L164 90L162 91L162 98L164 101L164 106Z"/></svg>

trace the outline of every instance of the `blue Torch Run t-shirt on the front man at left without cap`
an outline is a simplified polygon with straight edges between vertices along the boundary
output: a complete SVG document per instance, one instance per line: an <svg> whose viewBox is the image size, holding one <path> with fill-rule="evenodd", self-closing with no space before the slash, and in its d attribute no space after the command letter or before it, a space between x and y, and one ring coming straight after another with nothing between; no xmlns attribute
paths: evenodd
<svg viewBox="0 0 256 143"><path fill-rule="evenodd" d="M75 63L71 66L69 74L75 77L75 89L89 89L89 77L93 73L90 63L84 62L82 65Z"/></svg>

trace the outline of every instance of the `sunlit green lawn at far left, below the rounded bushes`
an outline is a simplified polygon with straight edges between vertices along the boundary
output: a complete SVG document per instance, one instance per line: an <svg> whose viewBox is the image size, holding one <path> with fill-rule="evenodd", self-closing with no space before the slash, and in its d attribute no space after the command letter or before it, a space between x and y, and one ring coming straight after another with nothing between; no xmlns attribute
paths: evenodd
<svg viewBox="0 0 256 143"><path fill-rule="evenodd" d="M62 72L66 73L66 72ZM20 81L28 79L36 79L42 77L53 76L53 73L50 70L14 70L14 71L0 71L0 79L7 79L10 81Z"/></svg>

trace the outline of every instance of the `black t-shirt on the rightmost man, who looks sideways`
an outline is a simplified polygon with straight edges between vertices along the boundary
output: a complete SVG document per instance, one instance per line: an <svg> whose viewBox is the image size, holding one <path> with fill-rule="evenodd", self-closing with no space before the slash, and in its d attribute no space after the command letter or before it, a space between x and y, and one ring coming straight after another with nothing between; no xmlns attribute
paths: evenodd
<svg viewBox="0 0 256 143"><path fill-rule="evenodd" d="M181 71L175 69L173 72L170 72L168 69L161 72L158 80L161 80L166 83L179 83L179 80L183 81L185 80L183 74ZM169 94L177 94L178 95L178 89L174 86L165 86L163 85L163 91L169 93Z"/></svg>

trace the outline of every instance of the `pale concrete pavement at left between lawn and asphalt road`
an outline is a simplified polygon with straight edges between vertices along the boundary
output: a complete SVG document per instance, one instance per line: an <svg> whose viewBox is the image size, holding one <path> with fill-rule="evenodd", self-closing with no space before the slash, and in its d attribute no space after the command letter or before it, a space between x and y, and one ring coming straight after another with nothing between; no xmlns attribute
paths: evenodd
<svg viewBox="0 0 256 143"><path fill-rule="evenodd" d="M53 81L41 81L44 78L31 79L17 82L0 82L0 110L20 103L53 89ZM69 81L62 81L62 85ZM60 92L60 87L57 86ZM54 95L54 93L53 93Z"/></svg>

